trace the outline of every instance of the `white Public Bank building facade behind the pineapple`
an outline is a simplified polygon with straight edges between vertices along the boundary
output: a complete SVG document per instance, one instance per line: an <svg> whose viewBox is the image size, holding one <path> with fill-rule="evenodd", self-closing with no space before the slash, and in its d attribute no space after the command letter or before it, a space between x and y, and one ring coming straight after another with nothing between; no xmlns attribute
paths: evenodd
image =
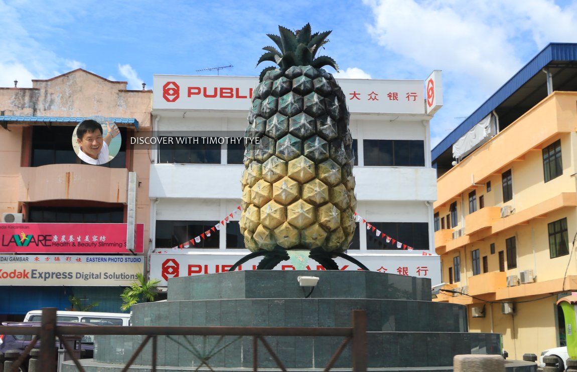
<svg viewBox="0 0 577 372"><path fill-rule="evenodd" d="M440 283L429 127L442 105L440 71L426 82L338 82L347 97L357 157L357 231L347 254L374 271ZM151 278L164 285L174 276L226 271L250 253L238 227L243 143L230 143L235 141L230 138L244 135L257 83L256 77L154 77L155 137L150 141L161 144L151 149L149 266ZM211 141L230 144L206 143ZM337 261L341 269L358 269ZM251 260L240 269L257 263ZM297 264L285 261L276 269L295 268ZM302 268L320 265L309 260Z"/></svg>

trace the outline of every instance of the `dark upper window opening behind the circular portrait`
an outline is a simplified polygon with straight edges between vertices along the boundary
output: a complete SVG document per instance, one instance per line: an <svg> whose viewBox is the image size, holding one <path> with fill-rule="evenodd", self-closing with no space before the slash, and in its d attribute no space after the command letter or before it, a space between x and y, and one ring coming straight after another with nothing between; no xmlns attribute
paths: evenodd
<svg viewBox="0 0 577 372"><path fill-rule="evenodd" d="M107 168L126 168L126 128L119 127L120 150L113 160L100 165ZM83 164L72 149L74 126L33 126L31 166L49 164Z"/></svg>

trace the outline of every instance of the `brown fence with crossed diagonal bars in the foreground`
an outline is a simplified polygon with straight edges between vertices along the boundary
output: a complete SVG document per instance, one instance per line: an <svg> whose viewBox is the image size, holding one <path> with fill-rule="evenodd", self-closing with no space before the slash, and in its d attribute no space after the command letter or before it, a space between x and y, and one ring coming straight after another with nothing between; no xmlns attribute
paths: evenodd
<svg viewBox="0 0 577 372"><path fill-rule="evenodd" d="M134 360L144 350L149 341L152 340L152 366L151 370L156 372L157 361L157 337L158 336L252 336L253 337L253 371L258 370L258 341L263 344L264 348L275 360L280 370L286 371L279 356L269 346L265 337L267 336L304 336L304 337L344 337L342 343L332 355L325 371L331 370L336 360L342 354L347 344L352 343L352 366L354 372L366 371L367 368L367 335L366 335L366 312L365 310L353 310L351 312L351 327L159 327L159 326L99 326L99 327L70 327L57 325L56 308L42 309L42 325L40 327L7 327L0 326L0 335L33 335L31 343L25 348L16 362L12 364L12 369L5 372L17 372L18 367L29 359L30 351L36 346L39 339L40 354L38 363L42 366L42 372L55 372L57 370L57 349L54 345L57 339L61 341L65 350L68 351L70 358L78 371L84 372L84 368L77 358L77 352L70 345L71 338L77 338L83 335L142 335L144 340L134 351L132 357L128 360L123 372L128 371L133 365ZM71 337L72 336L72 337ZM201 359L200 365L205 365L211 369L209 358Z"/></svg>

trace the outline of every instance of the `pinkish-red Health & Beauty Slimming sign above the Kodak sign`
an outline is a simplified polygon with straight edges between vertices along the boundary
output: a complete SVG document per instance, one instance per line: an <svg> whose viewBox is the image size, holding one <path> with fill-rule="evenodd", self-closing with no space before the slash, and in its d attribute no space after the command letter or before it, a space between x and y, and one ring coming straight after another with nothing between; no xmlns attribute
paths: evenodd
<svg viewBox="0 0 577 372"><path fill-rule="evenodd" d="M126 253L126 223L0 223L0 253ZM134 252L143 252L138 223Z"/></svg>

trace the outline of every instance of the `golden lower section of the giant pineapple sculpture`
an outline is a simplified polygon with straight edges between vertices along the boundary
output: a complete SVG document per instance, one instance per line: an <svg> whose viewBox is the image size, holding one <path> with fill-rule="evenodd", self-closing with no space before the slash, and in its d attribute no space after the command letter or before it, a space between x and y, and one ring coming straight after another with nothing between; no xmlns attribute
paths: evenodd
<svg viewBox="0 0 577 372"><path fill-rule="evenodd" d="M343 177L351 186L347 189L336 164L311 167L309 162L276 159L245 169L240 226L246 248L343 252L349 247L356 226L354 180Z"/></svg>

